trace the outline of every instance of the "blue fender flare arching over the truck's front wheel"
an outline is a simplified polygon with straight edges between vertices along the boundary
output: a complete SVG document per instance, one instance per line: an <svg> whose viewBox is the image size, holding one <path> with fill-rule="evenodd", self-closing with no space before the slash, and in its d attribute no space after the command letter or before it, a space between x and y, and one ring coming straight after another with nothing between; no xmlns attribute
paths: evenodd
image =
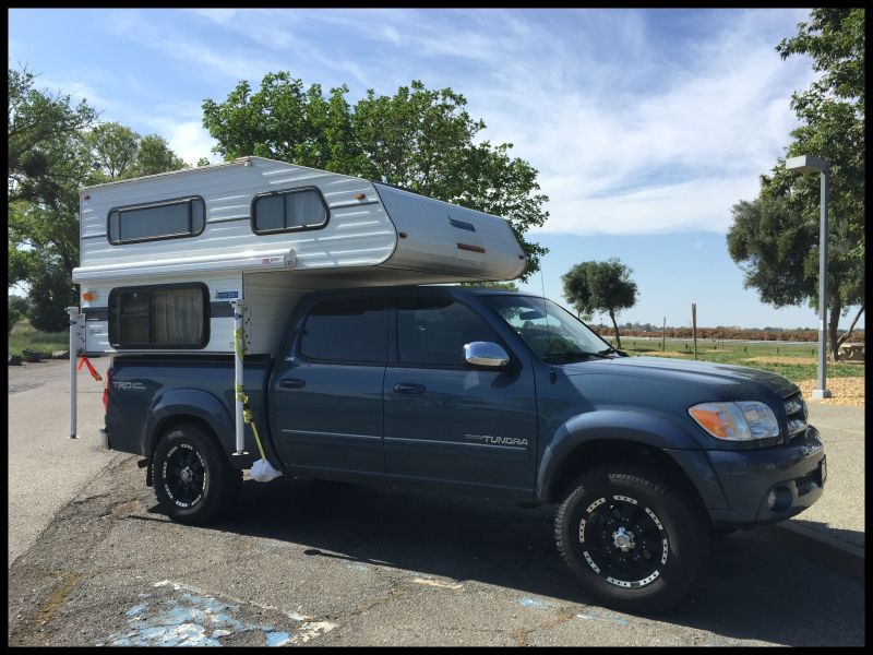
<svg viewBox="0 0 873 655"><path fill-rule="evenodd" d="M537 471L536 498L548 502L561 465L591 441L631 441L667 454L685 472L707 507L723 507L725 497L706 453L684 426L671 417L627 409L577 414L554 432Z"/></svg>

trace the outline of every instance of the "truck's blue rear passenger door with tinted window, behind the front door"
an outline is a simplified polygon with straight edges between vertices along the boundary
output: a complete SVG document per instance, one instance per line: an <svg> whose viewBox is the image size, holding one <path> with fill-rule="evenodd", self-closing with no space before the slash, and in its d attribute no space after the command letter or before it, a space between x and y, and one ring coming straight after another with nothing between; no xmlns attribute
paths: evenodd
<svg viewBox="0 0 873 655"><path fill-rule="evenodd" d="M277 362L271 389L276 440L291 471L384 480L384 302L316 302Z"/></svg>

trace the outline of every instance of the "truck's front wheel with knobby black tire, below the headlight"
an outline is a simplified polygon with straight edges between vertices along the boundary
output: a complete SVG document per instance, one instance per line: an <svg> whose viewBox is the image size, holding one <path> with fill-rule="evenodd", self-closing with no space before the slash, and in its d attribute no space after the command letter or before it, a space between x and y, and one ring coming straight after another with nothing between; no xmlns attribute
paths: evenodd
<svg viewBox="0 0 873 655"><path fill-rule="evenodd" d="M582 475L555 516L558 550L605 605L654 614L691 591L709 546L696 507L645 468L611 465Z"/></svg>

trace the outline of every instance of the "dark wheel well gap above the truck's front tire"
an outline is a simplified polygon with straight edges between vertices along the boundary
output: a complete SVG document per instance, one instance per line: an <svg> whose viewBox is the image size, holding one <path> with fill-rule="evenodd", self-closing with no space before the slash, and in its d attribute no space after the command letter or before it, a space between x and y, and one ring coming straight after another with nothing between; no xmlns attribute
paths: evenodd
<svg viewBox="0 0 873 655"><path fill-rule="evenodd" d="M560 502L581 474L609 462L633 463L650 467L671 485L681 489L683 496L693 499L697 509L708 515L697 488L682 467L663 451L635 441L598 440L576 448L564 461L554 481L550 485L549 501Z"/></svg>

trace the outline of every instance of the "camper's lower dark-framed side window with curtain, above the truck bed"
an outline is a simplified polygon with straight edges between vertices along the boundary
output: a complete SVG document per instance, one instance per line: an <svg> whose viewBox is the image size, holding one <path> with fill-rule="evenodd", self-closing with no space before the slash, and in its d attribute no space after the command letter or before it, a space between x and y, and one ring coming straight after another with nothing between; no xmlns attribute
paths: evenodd
<svg viewBox="0 0 873 655"><path fill-rule="evenodd" d="M115 348L202 348L208 342L204 284L124 287L109 294Z"/></svg>

